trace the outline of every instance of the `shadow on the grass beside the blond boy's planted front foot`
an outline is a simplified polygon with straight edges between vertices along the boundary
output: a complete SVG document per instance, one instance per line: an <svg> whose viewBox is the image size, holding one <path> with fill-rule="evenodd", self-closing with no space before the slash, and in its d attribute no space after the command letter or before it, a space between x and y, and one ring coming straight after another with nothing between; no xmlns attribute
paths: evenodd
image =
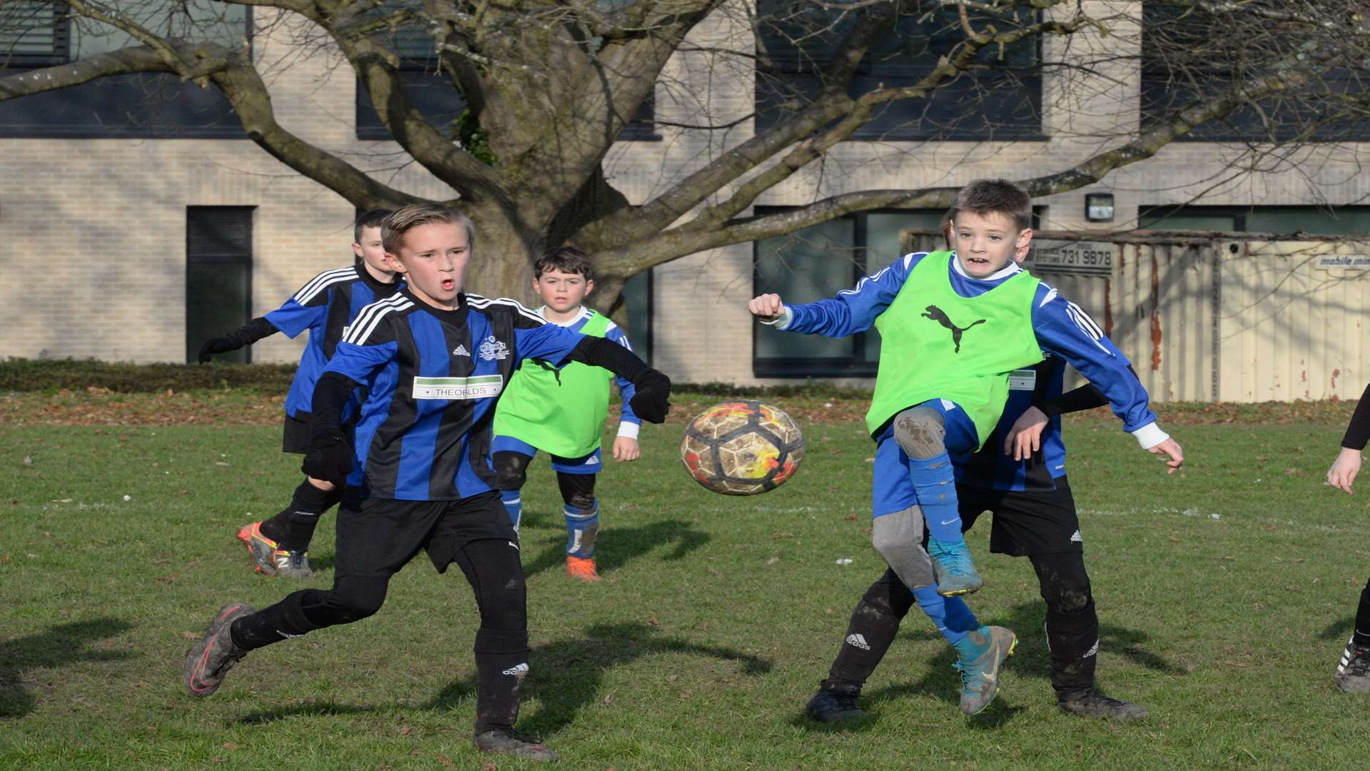
<svg viewBox="0 0 1370 771"><path fill-rule="evenodd" d="M519 730L534 735L555 734L599 698L604 672L630 664L644 656L689 653L741 663L745 675L763 675L771 663L732 648L696 645L678 637L662 637L647 624L596 624L581 639L553 642L534 648L529 654L532 671L523 685L525 698L541 701L536 715L519 720ZM455 682L433 700L433 708L452 708L475 693L475 676Z"/></svg>

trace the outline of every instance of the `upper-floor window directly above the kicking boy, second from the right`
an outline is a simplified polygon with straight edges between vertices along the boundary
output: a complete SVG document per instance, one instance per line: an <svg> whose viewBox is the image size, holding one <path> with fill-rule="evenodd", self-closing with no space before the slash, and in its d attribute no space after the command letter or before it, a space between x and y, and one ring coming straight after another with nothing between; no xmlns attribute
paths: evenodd
<svg viewBox="0 0 1370 771"><path fill-rule="evenodd" d="M756 33L756 132L785 119L785 103L803 103L822 88L827 63L855 15L825 11L808 0L760 0ZM975 29L999 30L1034 23L1030 8L1010 14L970 12ZM926 77L941 56L964 40L955 7L901 15L862 60L848 93L901 88ZM980 56L984 70L964 73L927 97L893 102L881 108L851 139L943 140L1044 139L1041 74L1037 38Z"/></svg>

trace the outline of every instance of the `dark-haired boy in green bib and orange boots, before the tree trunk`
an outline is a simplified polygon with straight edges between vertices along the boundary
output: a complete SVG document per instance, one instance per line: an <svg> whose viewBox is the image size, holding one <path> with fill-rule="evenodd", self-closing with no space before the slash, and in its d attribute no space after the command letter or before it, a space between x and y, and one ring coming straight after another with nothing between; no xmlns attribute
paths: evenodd
<svg viewBox="0 0 1370 771"><path fill-rule="evenodd" d="M593 289L590 258L577 248L551 248L533 263L533 292L543 300L538 316L571 332L606 337L633 350L618 325L582 305ZM519 490L527 479L527 465L538 450L549 453L564 503L566 572L585 582L599 580L595 572L599 534L595 475L603 468L600 431L608 414L612 379L611 372L597 366L569 364L555 370L534 362L514 373L495 410L490 457L514 530L523 513ZM614 460L636 461L641 455L637 432L643 421L633 414L633 384L619 377L618 387L623 407L614 439Z"/></svg>

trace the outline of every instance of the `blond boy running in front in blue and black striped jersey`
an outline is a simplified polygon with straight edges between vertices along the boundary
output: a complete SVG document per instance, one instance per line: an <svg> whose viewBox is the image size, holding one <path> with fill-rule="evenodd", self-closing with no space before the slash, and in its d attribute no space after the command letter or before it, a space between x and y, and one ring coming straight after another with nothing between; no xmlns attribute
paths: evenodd
<svg viewBox="0 0 1370 771"><path fill-rule="evenodd" d="M475 233L453 209L400 209L385 220L382 240L407 287L358 314L311 402L304 472L347 484L333 589L296 591L260 612L225 605L186 657L184 682L192 696L210 696L251 650L374 615L390 576L423 550L438 572L460 567L475 593L477 749L556 760L514 730L529 672L526 587L490 468L495 402L519 362L574 361L630 380L633 410L662 423L670 380L603 337L548 324L514 300L466 295ZM353 444L342 410L359 386L367 396Z"/></svg>

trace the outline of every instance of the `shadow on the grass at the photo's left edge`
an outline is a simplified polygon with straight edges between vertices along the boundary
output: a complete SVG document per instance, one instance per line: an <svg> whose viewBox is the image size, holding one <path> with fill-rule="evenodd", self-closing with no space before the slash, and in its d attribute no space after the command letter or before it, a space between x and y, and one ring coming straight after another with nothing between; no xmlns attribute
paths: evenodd
<svg viewBox="0 0 1370 771"><path fill-rule="evenodd" d="M58 624L45 632L0 642L0 719L33 712L34 697L22 685L25 669L64 667L77 661L119 661L122 650L82 650L97 639L133 628L119 619Z"/></svg>

